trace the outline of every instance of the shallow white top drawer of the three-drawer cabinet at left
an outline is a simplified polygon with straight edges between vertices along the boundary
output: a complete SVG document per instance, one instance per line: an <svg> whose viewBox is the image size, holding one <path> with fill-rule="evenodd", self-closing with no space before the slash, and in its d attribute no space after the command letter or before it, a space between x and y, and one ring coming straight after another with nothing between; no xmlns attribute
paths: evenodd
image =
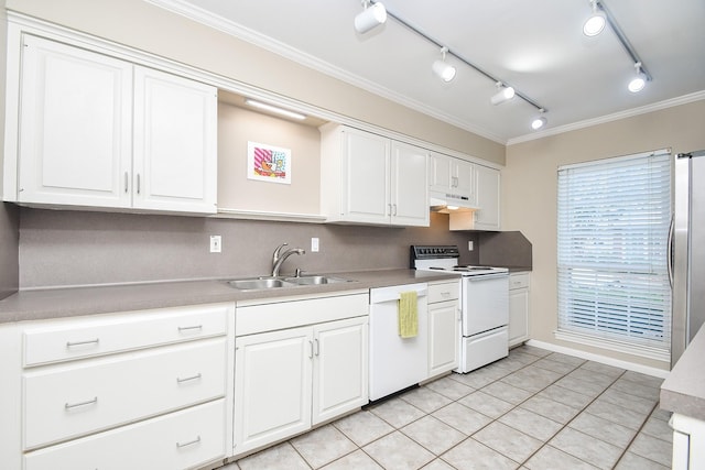
<svg viewBox="0 0 705 470"><path fill-rule="evenodd" d="M226 334L230 304L54 320L24 332L24 367Z"/></svg>

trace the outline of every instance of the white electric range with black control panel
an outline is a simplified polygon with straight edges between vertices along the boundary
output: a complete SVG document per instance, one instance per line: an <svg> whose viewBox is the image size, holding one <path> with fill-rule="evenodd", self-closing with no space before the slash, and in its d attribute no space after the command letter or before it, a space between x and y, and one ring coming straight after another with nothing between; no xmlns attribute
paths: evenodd
<svg viewBox="0 0 705 470"><path fill-rule="evenodd" d="M458 265L456 245L412 245L411 267L460 276L460 358L465 373L509 354L509 270Z"/></svg>

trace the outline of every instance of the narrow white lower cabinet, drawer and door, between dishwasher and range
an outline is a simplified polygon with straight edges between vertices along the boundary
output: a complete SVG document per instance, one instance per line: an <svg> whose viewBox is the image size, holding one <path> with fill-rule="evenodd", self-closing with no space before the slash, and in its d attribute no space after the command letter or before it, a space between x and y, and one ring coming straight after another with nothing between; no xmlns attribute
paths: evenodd
<svg viewBox="0 0 705 470"><path fill-rule="evenodd" d="M458 281L429 285L429 378L458 367Z"/></svg>

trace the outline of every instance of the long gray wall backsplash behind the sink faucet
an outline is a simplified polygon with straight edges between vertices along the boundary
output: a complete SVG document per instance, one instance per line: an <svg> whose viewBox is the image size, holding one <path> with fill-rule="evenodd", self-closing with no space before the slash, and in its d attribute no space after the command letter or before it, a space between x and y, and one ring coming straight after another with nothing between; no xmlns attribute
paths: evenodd
<svg viewBox="0 0 705 470"><path fill-rule="evenodd" d="M209 237L223 252L209 252ZM311 238L321 251L311 252ZM475 250L467 250L473 240ZM429 228L387 228L20 209L20 288L226 278L265 275L272 251L303 248L282 273L409 267L410 244L457 244L460 262L477 264L479 233L448 231L448 216L431 214Z"/></svg>

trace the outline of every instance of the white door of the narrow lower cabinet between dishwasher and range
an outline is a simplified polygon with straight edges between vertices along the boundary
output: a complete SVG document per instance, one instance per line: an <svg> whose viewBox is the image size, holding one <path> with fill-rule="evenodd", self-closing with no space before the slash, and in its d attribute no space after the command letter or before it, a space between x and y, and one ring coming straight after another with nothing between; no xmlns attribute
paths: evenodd
<svg viewBox="0 0 705 470"><path fill-rule="evenodd" d="M429 376L458 367L460 343L457 300L429 304Z"/></svg>

